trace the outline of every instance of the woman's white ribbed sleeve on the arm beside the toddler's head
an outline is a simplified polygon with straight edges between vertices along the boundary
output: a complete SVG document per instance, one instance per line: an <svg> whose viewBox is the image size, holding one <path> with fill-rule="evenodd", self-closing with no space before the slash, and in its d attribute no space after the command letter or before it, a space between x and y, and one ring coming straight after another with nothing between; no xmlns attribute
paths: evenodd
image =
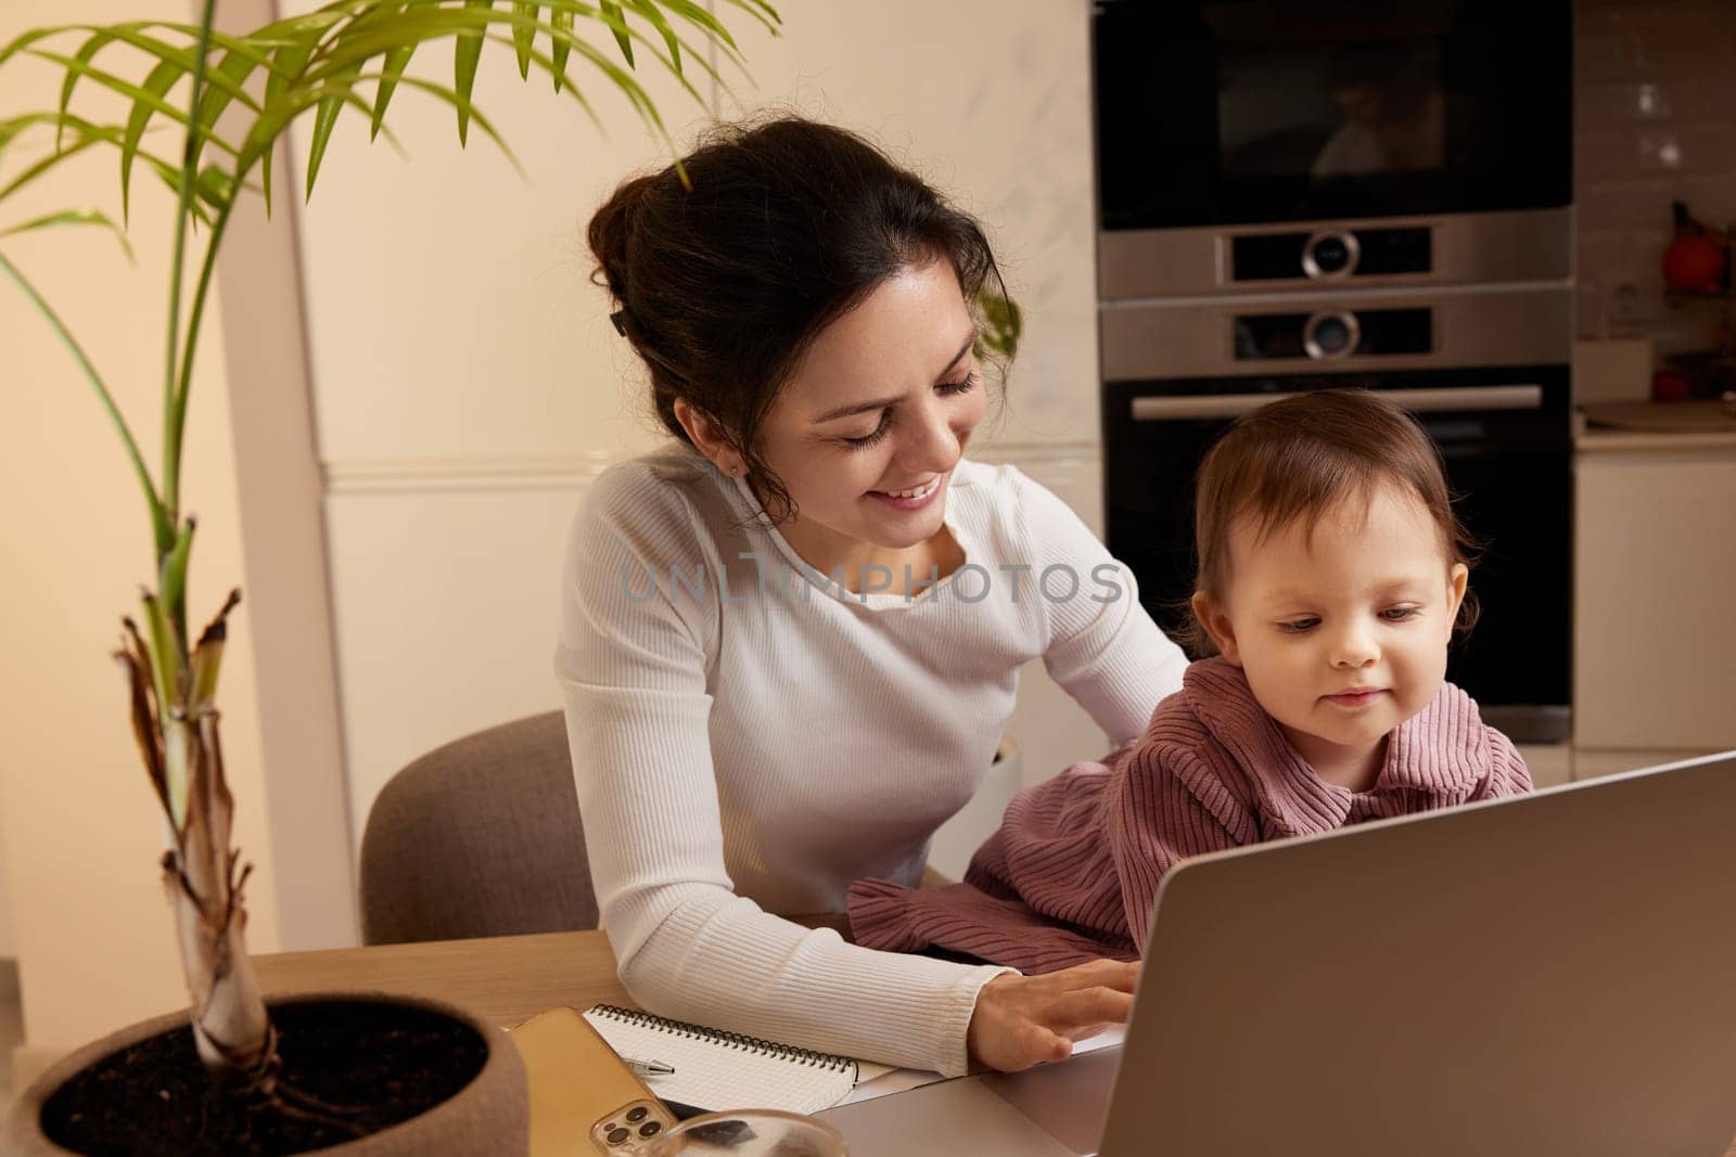
<svg viewBox="0 0 1736 1157"><path fill-rule="evenodd" d="M1054 493L1016 474L1033 555L1031 583L1049 612L1043 666L1121 744L1182 687L1187 656L1139 602L1134 572ZM1047 578L1045 578L1047 576ZM1061 595L1073 590L1071 598Z"/></svg>

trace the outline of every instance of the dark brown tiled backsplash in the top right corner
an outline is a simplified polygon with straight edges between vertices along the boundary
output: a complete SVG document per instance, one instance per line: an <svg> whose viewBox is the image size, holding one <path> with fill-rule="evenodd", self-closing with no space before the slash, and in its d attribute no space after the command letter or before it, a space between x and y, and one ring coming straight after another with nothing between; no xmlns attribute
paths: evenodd
<svg viewBox="0 0 1736 1157"><path fill-rule="evenodd" d="M1736 226L1736 0L1580 0L1575 201L1581 338L1706 349L1731 304L1668 302L1670 201Z"/></svg>

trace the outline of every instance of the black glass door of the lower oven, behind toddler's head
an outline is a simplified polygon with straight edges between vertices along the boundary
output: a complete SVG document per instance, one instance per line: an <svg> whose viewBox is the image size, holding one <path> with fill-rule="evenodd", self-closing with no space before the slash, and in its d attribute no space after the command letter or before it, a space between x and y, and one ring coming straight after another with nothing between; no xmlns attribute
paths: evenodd
<svg viewBox="0 0 1736 1157"><path fill-rule="evenodd" d="M1533 401L1517 404L1516 395ZM1573 635L1573 465L1566 366L1113 382L1104 387L1106 539L1139 581L1139 597L1172 633L1193 593L1193 486L1224 416L1142 415L1141 399L1281 395L1328 387L1427 390L1415 416L1434 437L1460 520L1479 539L1470 590L1481 605L1448 678L1486 709L1569 703ZM1463 394L1457 404L1450 395ZM1161 404L1161 402L1160 402ZM1510 725L1502 720L1503 729ZM1559 734L1510 734L1554 741Z"/></svg>

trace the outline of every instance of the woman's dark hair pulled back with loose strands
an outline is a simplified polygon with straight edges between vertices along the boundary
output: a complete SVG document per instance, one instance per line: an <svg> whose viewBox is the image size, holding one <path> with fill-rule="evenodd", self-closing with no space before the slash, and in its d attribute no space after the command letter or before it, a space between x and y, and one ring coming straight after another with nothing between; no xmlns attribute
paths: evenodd
<svg viewBox="0 0 1736 1157"><path fill-rule="evenodd" d="M675 399L710 416L779 522L795 505L757 432L819 331L937 258L972 314L984 284L1005 295L974 217L856 134L786 114L722 125L681 170L623 182L589 239L658 418L687 441Z"/></svg>

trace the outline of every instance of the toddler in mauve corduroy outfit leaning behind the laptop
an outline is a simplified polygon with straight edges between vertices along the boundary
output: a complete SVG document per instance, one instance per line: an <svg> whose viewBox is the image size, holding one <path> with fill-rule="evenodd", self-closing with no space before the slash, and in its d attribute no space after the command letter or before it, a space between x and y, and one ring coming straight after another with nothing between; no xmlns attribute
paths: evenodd
<svg viewBox="0 0 1736 1157"><path fill-rule="evenodd" d="M1319 390L1240 418L1200 467L1194 543L1210 657L1144 735L1019 793L965 883L856 881L858 944L1026 973L1135 959L1184 857L1531 789L1444 678L1469 539L1396 404Z"/></svg>

